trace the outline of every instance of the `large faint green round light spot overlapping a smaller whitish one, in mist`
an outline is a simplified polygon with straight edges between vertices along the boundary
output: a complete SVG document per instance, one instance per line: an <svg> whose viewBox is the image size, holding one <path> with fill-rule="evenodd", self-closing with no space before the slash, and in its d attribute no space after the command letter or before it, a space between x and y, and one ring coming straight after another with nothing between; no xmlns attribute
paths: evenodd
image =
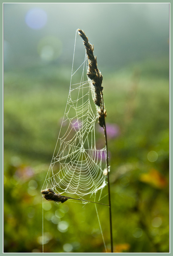
<svg viewBox="0 0 173 256"><path fill-rule="evenodd" d="M40 58L49 62L61 55L62 43L55 36L45 36L38 43L37 50Z"/></svg>

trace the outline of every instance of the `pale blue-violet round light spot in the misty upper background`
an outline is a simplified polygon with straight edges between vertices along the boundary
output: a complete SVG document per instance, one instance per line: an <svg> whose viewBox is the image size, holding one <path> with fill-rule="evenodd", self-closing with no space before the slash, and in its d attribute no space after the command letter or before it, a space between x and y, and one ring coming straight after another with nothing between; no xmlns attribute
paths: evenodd
<svg viewBox="0 0 173 256"><path fill-rule="evenodd" d="M30 28L40 29L47 23L47 13L41 8L32 8L26 13L25 22Z"/></svg>

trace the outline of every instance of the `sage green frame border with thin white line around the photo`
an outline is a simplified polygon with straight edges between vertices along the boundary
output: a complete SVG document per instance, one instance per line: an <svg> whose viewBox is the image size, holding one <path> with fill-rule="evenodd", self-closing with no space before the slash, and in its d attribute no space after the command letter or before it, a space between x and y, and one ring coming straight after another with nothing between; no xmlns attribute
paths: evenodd
<svg viewBox="0 0 173 256"><path fill-rule="evenodd" d="M33 1L26 1L26 2L23 2L23 1L18 1L18 2L15 2L15 1L10 1L10 2L2 2L1 3L1 15L2 15L2 17L1 17L1 22L2 22L2 26L1 26L1 30L2 30L2 33L1 33L1 35L2 35L2 38L3 38L3 7L4 7L4 4L5 3L23 3L23 4L25 4L25 3L34 3ZM59 2L57 2L57 1L55 1L55 0L52 0L50 3L48 3L48 2L42 2L42 1L36 1L35 3L47 3L47 4L51 4L51 3L66 3L66 4L68 4L68 3L98 3L98 4L102 4L102 3L106 3L105 1L103 1L103 2L100 2L100 1L98 1L98 0L95 0L95 1L91 1L91 0L89 0L89 1L79 1L79 0L76 0L76 1L59 1ZM34 4L35 4L34 3ZM170 16L171 16L171 3L170 2L158 2L158 1L146 1L146 2L139 2L139 1L133 1L133 2L131 2L131 1L126 1L126 2L124 2L124 1L118 1L118 2L115 2L115 1L109 1L108 3L106 3L106 4L109 4L109 3L114 3L114 4L120 4L120 3L124 3L124 4L128 4L128 3L158 3L158 4L160 4L160 3L168 3L169 4L169 19L170 19ZM171 23L170 23L170 25L171 25ZM169 30L170 31L170 30ZM1 40L1 49L3 49L3 40ZM1 52L1 55L2 55L2 60L3 60L3 51ZM171 52L170 52L170 59L171 59ZM2 81L3 81L3 61L1 62L1 70L2 70ZM170 70L170 74L171 74L171 70ZM170 86L170 85L169 85ZM1 120L2 120L2 125L1 125L1 133L2 133L2 145L3 145L3 86L2 86L2 89L1 89L1 91L0 91L0 95L1 95L1 100L2 100L2 104L1 104L1 108L2 108L2 111L0 112L0 115L1 115ZM171 100L171 92L170 92L170 100ZM170 111L171 111L171 104L170 104ZM170 116L171 117L171 116ZM171 118L170 118L170 127L171 127ZM170 147L171 147L171 145L172 145L172 141L170 140L170 142L169 142L169 145L170 145ZM170 155L170 158L171 158L171 155ZM2 146L2 160L1 160L1 162L3 163L3 146ZM2 169L3 169L3 166L2 166ZM171 164L170 164L170 169L171 169ZM3 170L2 170L2 174L3 174ZM3 177L2 177L2 182L3 182ZM4 183L2 184L2 190L3 190L3 186L4 186ZM3 190L4 191L4 190ZM2 194L3 194L3 191L2 191ZM171 195L171 194L170 194ZM2 197L2 206L3 206L3 197ZM171 208L170 208L171 209ZM1 211L1 213L0 213L0 216L2 217L2 220L4 221L4 218L3 218L3 213L4 212L4 208L2 207L2 211ZM1 215L2 214L2 215ZM170 217L169 217L170 218ZM3 252L3 240L4 240L4 229L3 229L3 226L4 226L4 224L3 224L3 221L2 221L2 239L1 239L1 241L2 241L2 249L1 249L1 252L0 252L0 255L2 254L10 254L10 255L13 255L14 253L4 253ZM171 229L171 226L172 226L172 224L170 225L170 229ZM1 237L1 236L0 236ZM170 237L170 241L169 241L169 244L171 244L171 237ZM0 248L1 248L1 246L0 246ZM169 248L170 249L170 248ZM27 255L38 255L38 253L20 253L20 255L25 255L25 254L27 254ZM48 256L50 253L44 253L44 255L46 255L46 256ZM52 254L52 253L51 253ZM54 253L53 253L54 254ZM59 255L71 255L71 254L77 254L77 255L86 255L86 256L94 256L95 254L100 254L100 255L107 255L107 253L58 253ZM111 253L108 253L108 254L111 254ZM115 253L114 253L115 254ZM153 254L155 254L155 255L160 255L160 254L162 254L162 255L166 255L166 254L171 254L171 249L170 249L170 252L167 252L167 253L116 253L116 255L121 255L121 254L135 254L135 255L140 255L140 254L142 254L142 255L153 255Z"/></svg>

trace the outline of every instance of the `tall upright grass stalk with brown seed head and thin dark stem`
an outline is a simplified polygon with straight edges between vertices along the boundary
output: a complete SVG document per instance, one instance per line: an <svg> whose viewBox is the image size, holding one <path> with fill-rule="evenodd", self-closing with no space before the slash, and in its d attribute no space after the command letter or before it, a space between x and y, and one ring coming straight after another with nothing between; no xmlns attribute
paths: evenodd
<svg viewBox="0 0 173 256"><path fill-rule="evenodd" d="M103 100L103 87L102 87L102 80L103 76L99 69L97 68L97 59L94 57L93 50L94 46L89 43L88 37L85 35L83 30L78 29L78 34L83 39L83 44L86 49L86 54L88 56L88 72L87 76L91 81L94 91L95 91L95 98L94 103L97 105L98 109L98 123L104 129L105 133L105 146L106 146L106 165L107 165L107 181L108 181L108 196L109 196L109 220L110 220L110 238L111 238L111 252L113 252L113 237L112 237L112 213L111 213L111 193L110 193L110 181L109 181L109 157L108 157L108 143L107 143L107 133L106 133L106 110L104 106Z"/></svg>

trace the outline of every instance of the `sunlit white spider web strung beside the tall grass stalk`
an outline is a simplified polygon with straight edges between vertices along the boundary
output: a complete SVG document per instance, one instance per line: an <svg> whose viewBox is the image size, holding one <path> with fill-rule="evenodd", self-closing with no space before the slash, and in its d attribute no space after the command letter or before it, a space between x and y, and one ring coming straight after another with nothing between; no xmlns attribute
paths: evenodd
<svg viewBox="0 0 173 256"><path fill-rule="evenodd" d="M72 69L61 130L43 185L57 193L76 194L79 198L97 192L106 185L103 174L106 150L96 147L95 123L98 117L92 83L86 76L87 61L85 56L77 71L73 72Z"/></svg>

